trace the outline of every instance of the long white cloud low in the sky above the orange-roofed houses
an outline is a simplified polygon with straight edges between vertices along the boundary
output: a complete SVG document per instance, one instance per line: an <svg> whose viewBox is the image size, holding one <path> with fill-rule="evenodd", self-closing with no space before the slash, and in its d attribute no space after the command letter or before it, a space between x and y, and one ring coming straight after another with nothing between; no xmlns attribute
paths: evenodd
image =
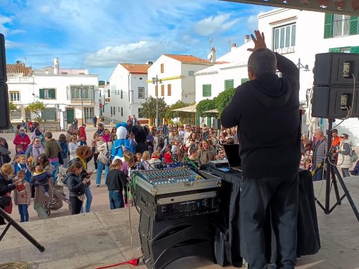
<svg viewBox="0 0 359 269"><path fill-rule="evenodd" d="M139 41L137 43L107 46L97 52L88 54L85 65L90 67L116 66L119 62L145 63L153 61L162 54L163 43Z"/></svg>

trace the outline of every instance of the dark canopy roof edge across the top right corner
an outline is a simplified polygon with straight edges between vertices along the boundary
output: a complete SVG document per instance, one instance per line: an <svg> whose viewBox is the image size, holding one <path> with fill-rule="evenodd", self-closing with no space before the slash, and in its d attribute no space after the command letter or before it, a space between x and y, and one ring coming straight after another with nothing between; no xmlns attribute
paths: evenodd
<svg viewBox="0 0 359 269"><path fill-rule="evenodd" d="M238 3L253 3L262 6L278 8L293 8L296 10L310 10L326 13L347 14L359 16L359 0L332 1L332 0L222 0Z"/></svg>

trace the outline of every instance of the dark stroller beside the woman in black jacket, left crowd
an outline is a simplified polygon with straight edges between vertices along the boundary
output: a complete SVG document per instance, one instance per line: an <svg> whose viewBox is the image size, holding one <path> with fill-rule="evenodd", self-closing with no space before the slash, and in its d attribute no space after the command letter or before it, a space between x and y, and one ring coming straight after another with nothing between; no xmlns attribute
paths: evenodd
<svg viewBox="0 0 359 269"><path fill-rule="evenodd" d="M53 188L54 197L49 203L44 203L47 216L50 216L51 210L59 210L62 208L62 206L64 206L63 202L68 203L68 210L71 212L71 203L64 193L64 183L62 183L62 177L64 177L64 175L66 175L66 168L59 167L59 174L57 175Z"/></svg>

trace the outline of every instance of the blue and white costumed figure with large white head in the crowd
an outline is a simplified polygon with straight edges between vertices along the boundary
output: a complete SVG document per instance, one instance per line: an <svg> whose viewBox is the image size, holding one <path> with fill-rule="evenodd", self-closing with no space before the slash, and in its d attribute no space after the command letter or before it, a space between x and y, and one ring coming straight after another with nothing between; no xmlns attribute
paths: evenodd
<svg viewBox="0 0 359 269"><path fill-rule="evenodd" d="M126 122L116 124L117 140L113 142L113 148L111 152L113 161L115 161L115 159L121 159L122 161L124 161L124 150L128 150L132 153L135 152L133 146L131 146L130 139L126 139L127 136L126 126L127 126Z"/></svg>

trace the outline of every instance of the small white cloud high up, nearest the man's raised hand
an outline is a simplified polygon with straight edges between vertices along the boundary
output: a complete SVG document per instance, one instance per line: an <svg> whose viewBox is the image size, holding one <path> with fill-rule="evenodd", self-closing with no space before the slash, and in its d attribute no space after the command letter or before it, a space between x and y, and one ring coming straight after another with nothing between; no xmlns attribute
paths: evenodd
<svg viewBox="0 0 359 269"><path fill-rule="evenodd" d="M240 21L240 19L229 21L230 17L231 14L219 14L215 17L207 17L196 23L195 31L202 36L224 32Z"/></svg>

